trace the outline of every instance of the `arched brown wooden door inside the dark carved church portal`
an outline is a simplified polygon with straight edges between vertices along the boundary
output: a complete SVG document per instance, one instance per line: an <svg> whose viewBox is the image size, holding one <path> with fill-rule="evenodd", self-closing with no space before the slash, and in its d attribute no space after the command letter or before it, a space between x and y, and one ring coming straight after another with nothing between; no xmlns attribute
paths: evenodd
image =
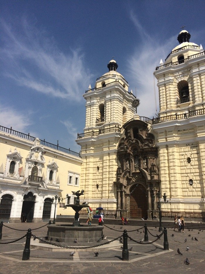
<svg viewBox="0 0 205 274"><path fill-rule="evenodd" d="M130 189L130 218L147 218L147 191L141 184Z"/></svg>

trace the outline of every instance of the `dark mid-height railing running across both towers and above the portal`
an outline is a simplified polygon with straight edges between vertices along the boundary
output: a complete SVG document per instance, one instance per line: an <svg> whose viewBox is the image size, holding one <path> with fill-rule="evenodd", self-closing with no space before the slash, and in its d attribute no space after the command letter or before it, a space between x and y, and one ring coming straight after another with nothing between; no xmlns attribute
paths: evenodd
<svg viewBox="0 0 205 274"><path fill-rule="evenodd" d="M205 109L199 109L199 110L191 110L187 113L180 113L180 114L173 114L173 115L167 115L163 117L157 117L157 118L148 118L145 116L140 116L139 119L143 122L146 122L148 124L154 125L154 124L159 124L167 121L172 121L172 120L182 120L182 119L187 119L193 116L197 115L203 115L205 114ZM84 132L84 133L78 133L77 139L83 138L83 137L90 137L90 136L98 136L103 133L108 133L108 132L122 132L122 130L126 127L126 125L130 122L133 121L134 119L130 119L127 121L122 127L115 126L115 127L109 127L105 129L99 129L99 130L92 130L89 132Z"/></svg>

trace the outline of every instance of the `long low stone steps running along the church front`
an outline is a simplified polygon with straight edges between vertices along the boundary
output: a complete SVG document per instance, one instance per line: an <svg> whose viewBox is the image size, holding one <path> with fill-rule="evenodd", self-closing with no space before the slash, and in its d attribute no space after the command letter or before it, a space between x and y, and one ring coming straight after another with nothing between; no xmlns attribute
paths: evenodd
<svg viewBox="0 0 205 274"><path fill-rule="evenodd" d="M62 222L62 223L72 223L74 221L74 218L65 218L65 217L61 217L61 218L56 218L55 219L56 222ZM87 221L87 217L86 218L80 218L80 223L86 223ZM92 223L98 223L98 219L92 219ZM106 225L122 225L122 221L119 219L112 219L112 218L105 218L104 219L104 223ZM159 222L156 220L153 221L143 221L143 220L139 220L139 219L129 219L129 223L127 224L127 226L129 225L134 225L134 226L143 226L144 224L147 224L147 226L152 226L152 227L159 227ZM174 228L174 221L162 221L162 227L173 227ZM185 229L186 228L190 228L190 229L204 229L205 230L205 223L196 223L196 222L186 222L185 221Z"/></svg>

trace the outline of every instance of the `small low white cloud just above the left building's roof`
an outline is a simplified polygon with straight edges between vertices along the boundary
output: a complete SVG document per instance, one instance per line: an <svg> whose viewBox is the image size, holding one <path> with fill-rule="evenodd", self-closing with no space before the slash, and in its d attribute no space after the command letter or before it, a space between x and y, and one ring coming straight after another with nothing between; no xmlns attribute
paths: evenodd
<svg viewBox="0 0 205 274"><path fill-rule="evenodd" d="M23 113L14 110L10 107L0 105L0 124L2 126L11 126L14 130L25 132L26 127L32 122L28 117L28 113Z"/></svg>

